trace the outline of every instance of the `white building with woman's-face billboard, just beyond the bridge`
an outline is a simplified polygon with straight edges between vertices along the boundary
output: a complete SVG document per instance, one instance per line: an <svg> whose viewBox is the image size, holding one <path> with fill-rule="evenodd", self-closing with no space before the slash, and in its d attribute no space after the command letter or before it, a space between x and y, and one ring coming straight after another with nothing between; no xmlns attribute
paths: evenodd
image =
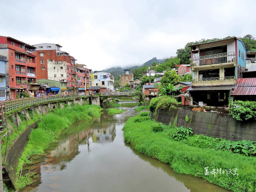
<svg viewBox="0 0 256 192"><path fill-rule="evenodd" d="M114 92L114 75L108 72L94 71L91 74L90 90L96 89L99 92Z"/></svg>

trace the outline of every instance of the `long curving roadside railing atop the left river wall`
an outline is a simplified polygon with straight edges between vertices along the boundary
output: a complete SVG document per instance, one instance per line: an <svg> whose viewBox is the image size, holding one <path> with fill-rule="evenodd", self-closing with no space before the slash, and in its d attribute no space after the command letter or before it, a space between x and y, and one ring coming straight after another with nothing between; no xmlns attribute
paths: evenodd
<svg viewBox="0 0 256 192"><path fill-rule="evenodd" d="M95 94L92 93L76 93L76 94L68 94L68 95L47 95L47 96L40 96L40 97L30 97L24 99L15 99L4 101L6 112L18 109L20 107L25 107L32 104L40 104L44 102L50 102L54 100L61 100L61 99L75 99L80 97L87 97L87 96L94 96ZM96 95L98 95L96 93Z"/></svg>

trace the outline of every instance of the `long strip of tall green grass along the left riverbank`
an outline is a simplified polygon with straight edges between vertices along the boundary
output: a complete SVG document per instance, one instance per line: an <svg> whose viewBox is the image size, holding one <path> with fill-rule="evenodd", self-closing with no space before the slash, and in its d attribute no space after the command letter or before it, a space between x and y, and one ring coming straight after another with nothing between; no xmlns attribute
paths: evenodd
<svg viewBox="0 0 256 192"><path fill-rule="evenodd" d="M15 185L20 189L30 184L32 173L19 176L23 165L30 163L30 157L44 153L44 149L55 141L63 129L75 122L97 117L100 111L102 108L97 105L67 105L64 109L56 109L43 116L38 128L31 132L29 141L19 158Z"/></svg>

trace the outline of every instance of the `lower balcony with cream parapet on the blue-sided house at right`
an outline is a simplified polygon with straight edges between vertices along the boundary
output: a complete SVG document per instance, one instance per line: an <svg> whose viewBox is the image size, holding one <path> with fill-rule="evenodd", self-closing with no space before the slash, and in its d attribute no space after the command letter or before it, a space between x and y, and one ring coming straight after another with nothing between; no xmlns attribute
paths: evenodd
<svg viewBox="0 0 256 192"><path fill-rule="evenodd" d="M192 79L192 86L235 85L235 76Z"/></svg>

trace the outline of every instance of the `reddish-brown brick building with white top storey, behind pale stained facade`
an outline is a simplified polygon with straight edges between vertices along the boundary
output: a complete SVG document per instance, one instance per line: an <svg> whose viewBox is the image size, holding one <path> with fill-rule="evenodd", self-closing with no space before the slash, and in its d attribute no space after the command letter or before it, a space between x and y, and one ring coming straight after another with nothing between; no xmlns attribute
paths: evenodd
<svg viewBox="0 0 256 192"><path fill-rule="evenodd" d="M34 46L37 48L36 55L38 59L37 59L36 65L37 65L38 79L48 79L47 62L66 61L67 62L66 63L66 66L67 66L66 81L67 81L67 89L68 89L67 92L69 94L75 93L75 85L76 85L75 61L77 60L74 57L70 56L69 53L65 51L61 51L60 49L62 46L60 46L59 44L41 43L41 44L36 44ZM61 66L59 66L58 68L60 67ZM72 78L72 76L74 76L74 78Z"/></svg>

